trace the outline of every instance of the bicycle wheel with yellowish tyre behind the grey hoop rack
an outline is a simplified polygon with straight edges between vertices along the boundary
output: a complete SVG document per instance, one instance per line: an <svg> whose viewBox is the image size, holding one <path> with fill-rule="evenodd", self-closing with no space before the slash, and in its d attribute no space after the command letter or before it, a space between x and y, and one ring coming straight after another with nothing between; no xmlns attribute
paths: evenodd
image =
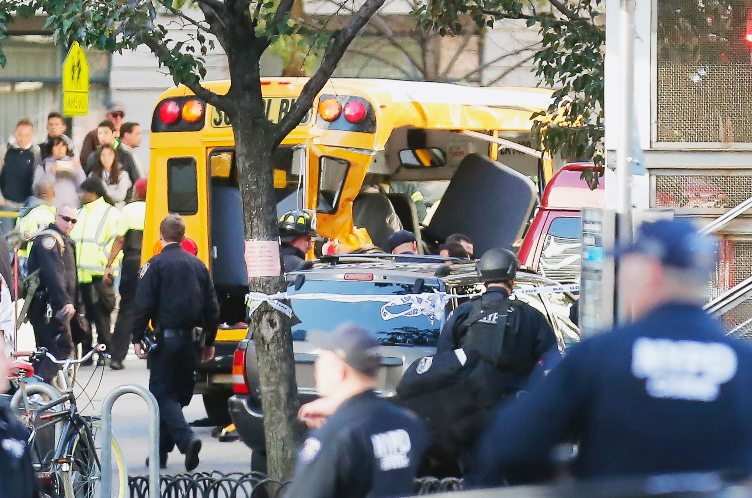
<svg viewBox="0 0 752 498"><path fill-rule="evenodd" d="M102 469L97 463L97 459L99 461L102 460L99 422L92 423L90 428L94 439L94 448L91 447L89 439L86 437L86 432L83 429L71 434L70 458L68 462L58 465L56 473L62 482L62 496L65 496L65 498L94 498L102 484ZM123 454L114 435L111 439L111 445L114 463L114 469L111 469L111 472L113 472L111 477L113 478L113 490L115 491L112 496L125 498L126 490L128 489L128 477ZM95 453L96 458L94 457Z"/></svg>

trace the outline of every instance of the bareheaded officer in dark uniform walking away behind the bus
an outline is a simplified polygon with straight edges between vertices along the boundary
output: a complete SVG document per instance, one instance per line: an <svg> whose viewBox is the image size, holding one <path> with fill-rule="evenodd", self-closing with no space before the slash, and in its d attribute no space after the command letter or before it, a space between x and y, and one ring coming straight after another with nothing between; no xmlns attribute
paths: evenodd
<svg viewBox="0 0 752 498"><path fill-rule="evenodd" d="M201 451L201 440L183 417L183 406L190 403L196 384L199 343L194 340L194 329L203 327L201 361L210 361L214 358L220 309L205 264L180 246L185 232L180 215L167 216L159 225L163 249L141 268L132 342L138 358L146 358L141 341L151 320L159 343L149 353L149 391L159 403L159 465L165 468L168 453L177 445L190 471L199 465Z"/></svg>

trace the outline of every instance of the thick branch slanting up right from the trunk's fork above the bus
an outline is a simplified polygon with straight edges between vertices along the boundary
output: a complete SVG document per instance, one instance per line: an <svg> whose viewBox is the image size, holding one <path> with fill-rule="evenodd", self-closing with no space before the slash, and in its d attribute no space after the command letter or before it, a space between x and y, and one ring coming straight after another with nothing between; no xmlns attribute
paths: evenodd
<svg viewBox="0 0 752 498"><path fill-rule="evenodd" d="M308 110L314 104L314 98L323 89L329 78L332 77L332 73L337 68L337 62L342 58L347 47L350 46L350 42L353 41L353 38L355 38L360 29L365 26L365 23L368 23L371 16L381 8L381 5L384 5L384 0L365 0L356 14L350 19L350 22L347 23L347 26L336 32L332 43L329 44L321 60L321 65L316 74L308 80L308 83L305 83L302 92L300 92L294 109L278 125L274 126L274 145L277 145L284 137L287 137L287 134L290 134L290 131L293 131L303 119L305 113L308 113Z"/></svg>

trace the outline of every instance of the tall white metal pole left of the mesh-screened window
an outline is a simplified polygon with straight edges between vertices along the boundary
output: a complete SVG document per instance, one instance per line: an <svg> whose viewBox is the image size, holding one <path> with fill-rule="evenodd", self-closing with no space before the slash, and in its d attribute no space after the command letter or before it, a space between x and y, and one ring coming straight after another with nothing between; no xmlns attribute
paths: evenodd
<svg viewBox="0 0 752 498"><path fill-rule="evenodd" d="M619 13L619 137L617 141L616 164L616 213L617 244L629 244L632 241L632 122L634 120L635 93L635 0L621 0ZM629 321L629 312L624 303L623 289L626 285L620 268L617 266L617 323Z"/></svg>

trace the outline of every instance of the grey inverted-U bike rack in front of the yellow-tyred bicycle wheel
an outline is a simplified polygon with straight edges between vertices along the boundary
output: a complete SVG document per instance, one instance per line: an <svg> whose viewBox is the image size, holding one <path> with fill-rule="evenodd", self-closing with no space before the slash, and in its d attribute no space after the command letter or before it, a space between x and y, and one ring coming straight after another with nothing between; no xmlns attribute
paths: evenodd
<svg viewBox="0 0 752 498"><path fill-rule="evenodd" d="M102 404L102 441L112 440L112 406L123 394L138 394L149 408L149 496L159 498L159 405L153 394L140 385L114 388ZM105 472L107 475L105 475ZM112 445L102 443L102 496L112 496Z"/></svg>

